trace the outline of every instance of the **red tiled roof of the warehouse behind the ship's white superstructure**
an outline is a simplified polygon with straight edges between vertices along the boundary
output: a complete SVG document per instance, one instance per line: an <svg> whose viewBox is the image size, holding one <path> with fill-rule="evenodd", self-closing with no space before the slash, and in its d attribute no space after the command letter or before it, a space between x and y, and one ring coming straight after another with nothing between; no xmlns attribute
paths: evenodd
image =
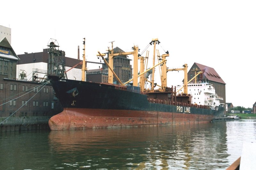
<svg viewBox="0 0 256 170"><path fill-rule="evenodd" d="M223 84L226 84L222 78L219 76L219 74L214 70L214 68L212 67L208 67L208 66L205 66L203 64L199 64L199 63L195 63L197 65L197 67L200 69L200 70L203 70L204 71L204 76L210 80L210 81L214 81L214 82L218 82L218 83L223 83Z"/></svg>

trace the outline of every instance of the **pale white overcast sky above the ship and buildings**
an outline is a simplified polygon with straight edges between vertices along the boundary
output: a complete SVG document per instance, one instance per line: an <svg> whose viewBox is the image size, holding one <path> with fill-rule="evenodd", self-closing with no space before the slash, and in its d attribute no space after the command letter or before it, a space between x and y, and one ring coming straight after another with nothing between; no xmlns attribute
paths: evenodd
<svg viewBox="0 0 256 170"><path fill-rule="evenodd" d="M3 1L0 25L12 29L16 54L42 52L56 39L67 57L80 59L86 38L88 61L114 47L141 51L153 38L160 54L169 51L169 68L193 63L214 68L226 83L226 102L252 107L256 102L256 1ZM150 48L149 57L153 55ZM132 59L132 56L131 56ZM88 64L88 69L99 65ZM182 71L167 73L179 85ZM160 84L160 82L158 82Z"/></svg>

